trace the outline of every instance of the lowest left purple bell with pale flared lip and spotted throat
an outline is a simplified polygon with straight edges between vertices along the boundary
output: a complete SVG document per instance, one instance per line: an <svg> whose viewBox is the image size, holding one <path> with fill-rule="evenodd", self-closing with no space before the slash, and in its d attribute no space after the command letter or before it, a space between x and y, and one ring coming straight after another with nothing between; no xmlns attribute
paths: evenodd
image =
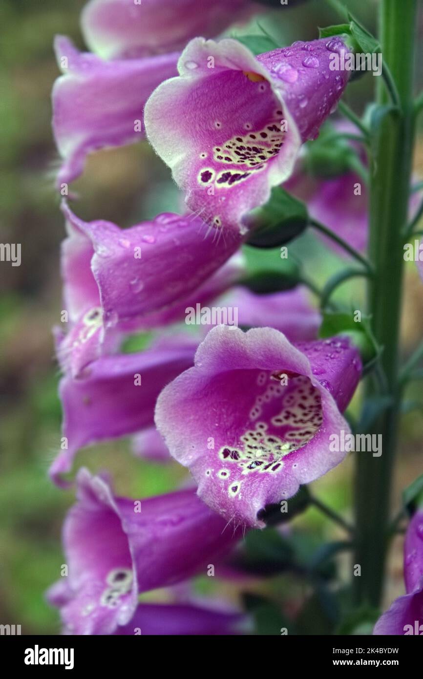
<svg viewBox="0 0 423 679"><path fill-rule="evenodd" d="M192 490L117 498L105 479L81 469L63 526L67 577L48 593L65 631L113 634L132 619L139 593L206 570L234 545L238 534L225 526Z"/></svg>

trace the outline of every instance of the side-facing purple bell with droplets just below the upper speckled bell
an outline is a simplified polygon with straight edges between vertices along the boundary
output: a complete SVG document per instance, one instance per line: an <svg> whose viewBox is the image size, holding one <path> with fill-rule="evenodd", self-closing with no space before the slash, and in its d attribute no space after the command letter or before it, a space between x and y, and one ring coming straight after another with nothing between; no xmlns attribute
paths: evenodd
<svg viewBox="0 0 423 679"><path fill-rule="evenodd" d="M66 203L62 209L68 228L91 244L91 269L106 329L148 327L149 313L166 310L196 290L242 243L239 234L207 230L194 215L164 213L122 230L107 221L85 222ZM223 276L219 291L231 276ZM216 281L213 291L215 286Z"/></svg>

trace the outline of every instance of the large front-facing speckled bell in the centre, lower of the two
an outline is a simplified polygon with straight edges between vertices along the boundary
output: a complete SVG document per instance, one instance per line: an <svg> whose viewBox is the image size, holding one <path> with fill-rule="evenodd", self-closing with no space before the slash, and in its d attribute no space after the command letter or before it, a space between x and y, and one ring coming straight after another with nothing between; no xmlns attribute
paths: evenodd
<svg viewBox="0 0 423 679"><path fill-rule="evenodd" d="M274 329L219 326L200 344L194 367L160 394L155 423L212 509L263 526L267 504L346 456L331 435L340 441L342 430L349 433L340 411L360 375L348 339L293 346Z"/></svg>

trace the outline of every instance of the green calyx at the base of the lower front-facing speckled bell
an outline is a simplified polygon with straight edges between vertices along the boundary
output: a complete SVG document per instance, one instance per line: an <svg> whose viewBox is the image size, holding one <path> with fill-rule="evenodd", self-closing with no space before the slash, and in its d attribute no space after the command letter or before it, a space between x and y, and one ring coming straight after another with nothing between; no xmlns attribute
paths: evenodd
<svg viewBox="0 0 423 679"><path fill-rule="evenodd" d="M367 371L381 353L381 348L371 332L369 320L369 316L364 314L361 315L361 321L355 321L352 313L324 311L318 335L322 338L336 335L349 337L352 344L358 348L363 361L363 369Z"/></svg>

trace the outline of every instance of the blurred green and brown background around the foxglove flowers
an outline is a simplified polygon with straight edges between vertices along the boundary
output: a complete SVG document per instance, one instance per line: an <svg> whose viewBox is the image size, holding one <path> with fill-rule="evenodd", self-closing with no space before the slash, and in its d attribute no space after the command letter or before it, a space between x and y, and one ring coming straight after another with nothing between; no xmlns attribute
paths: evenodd
<svg viewBox="0 0 423 679"><path fill-rule="evenodd" d="M374 29L375 2L347 4L369 29ZM22 634L57 634L60 629L58 614L46 604L43 592L60 574L64 561L60 526L73 502L73 491L54 488L47 477L60 441L59 373L50 329L58 323L62 308L58 256L64 237L59 199L53 188L58 157L50 130L50 90L58 75L52 52L54 35L65 33L84 48L79 31L83 5L83 0L0 0L0 240L22 244L20 267L0 264L0 623L21 624ZM312 39L316 26L338 22L324 0L310 1L282 14L283 21L280 10L260 20L280 44ZM257 25L242 29L245 33L252 31L259 33L260 29ZM229 34L240 35L240 31ZM346 100L361 112L371 98L373 85L371 75L365 75L348 87ZM420 134L416 152L420 177L422 141ZM83 177L72 188L80 196L75 207L78 215L109 219L122 227L160 211L179 210L182 204L168 168L147 143L92 155ZM343 265L310 235L302 236L292 250L290 246L291 252L320 283ZM265 257L268 265L278 268L278 252ZM359 304L363 291L354 283L345 285L340 296L347 304ZM405 354L422 333L423 288L414 266L409 265L403 318ZM410 389L408 398L417 405L404 418L395 505L399 504L399 490L423 471L420 388ZM164 466L137 460L127 441L80 453L77 466L81 464L93 471L109 469L117 491L135 497L172 490L186 479L185 470L176 463ZM352 517L352 473L353 460L349 459L314 484L316 494L348 518ZM293 524L310 539L316 535L339 539L338 530L315 510ZM339 562L341 574L347 564L342 559ZM389 585L387 602L403 591L401 539L392 547ZM248 579L242 585L210 585L200 578L196 587L202 593L224 593L238 602L241 589L270 595L277 598L288 616L301 606L317 615L310 589L292 573L264 582ZM157 599L166 593L147 596ZM268 619L269 611L266 616ZM308 617L304 615L304 619ZM307 625L301 629L307 631ZM324 623L320 629L325 631Z"/></svg>

